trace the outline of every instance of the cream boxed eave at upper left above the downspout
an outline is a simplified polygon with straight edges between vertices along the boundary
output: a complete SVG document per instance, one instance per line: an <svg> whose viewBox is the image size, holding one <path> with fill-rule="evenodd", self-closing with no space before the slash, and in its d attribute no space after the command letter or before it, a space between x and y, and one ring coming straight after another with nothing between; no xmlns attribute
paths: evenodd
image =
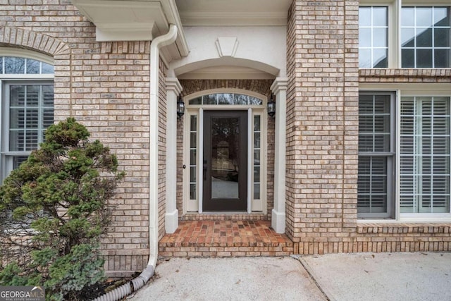
<svg viewBox="0 0 451 301"><path fill-rule="evenodd" d="M72 0L75 7L96 25L96 39L106 41L152 41L177 25L175 43L162 49L166 61L187 56L188 47L174 0Z"/></svg>

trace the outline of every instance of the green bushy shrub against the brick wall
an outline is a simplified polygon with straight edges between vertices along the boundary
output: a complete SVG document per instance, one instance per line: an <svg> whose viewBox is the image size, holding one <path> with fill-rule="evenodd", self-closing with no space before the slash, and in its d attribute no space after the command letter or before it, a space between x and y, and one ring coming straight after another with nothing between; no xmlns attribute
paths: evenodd
<svg viewBox="0 0 451 301"><path fill-rule="evenodd" d="M43 285L47 300L77 300L104 278L100 238L124 174L74 118L45 137L0 187L0 285Z"/></svg>

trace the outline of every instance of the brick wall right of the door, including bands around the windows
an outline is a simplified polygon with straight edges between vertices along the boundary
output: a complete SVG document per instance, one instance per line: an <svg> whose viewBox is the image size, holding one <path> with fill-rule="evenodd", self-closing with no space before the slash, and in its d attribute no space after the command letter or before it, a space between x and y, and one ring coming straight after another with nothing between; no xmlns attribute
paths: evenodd
<svg viewBox="0 0 451 301"><path fill-rule="evenodd" d="M357 1L290 8L286 213L294 252L449 251L449 223L357 223L359 82L451 82L449 69L358 70L357 16Z"/></svg>

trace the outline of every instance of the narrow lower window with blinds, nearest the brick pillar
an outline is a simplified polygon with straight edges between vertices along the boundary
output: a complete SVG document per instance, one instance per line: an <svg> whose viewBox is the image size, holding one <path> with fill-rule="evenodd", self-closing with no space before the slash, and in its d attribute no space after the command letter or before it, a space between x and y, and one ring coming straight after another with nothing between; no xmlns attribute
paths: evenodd
<svg viewBox="0 0 451 301"><path fill-rule="evenodd" d="M393 211L393 95L359 95L359 217L390 217Z"/></svg>

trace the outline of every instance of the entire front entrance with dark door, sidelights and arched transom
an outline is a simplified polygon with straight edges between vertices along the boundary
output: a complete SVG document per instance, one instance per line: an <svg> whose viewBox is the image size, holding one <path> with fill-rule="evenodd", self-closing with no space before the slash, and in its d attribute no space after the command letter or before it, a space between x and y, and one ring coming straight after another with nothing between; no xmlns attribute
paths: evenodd
<svg viewBox="0 0 451 301"><path fill-rule="evenodd" d="M184 213L266 214L266 99L233 89L185 97Z"/></svg>

